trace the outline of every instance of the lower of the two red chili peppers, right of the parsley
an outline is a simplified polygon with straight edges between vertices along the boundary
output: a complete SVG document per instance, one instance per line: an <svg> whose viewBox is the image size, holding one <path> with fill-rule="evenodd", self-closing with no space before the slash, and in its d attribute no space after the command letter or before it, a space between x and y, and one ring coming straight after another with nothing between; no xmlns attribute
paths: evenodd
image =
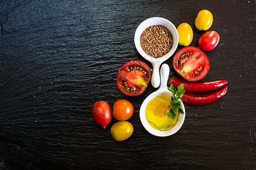
<svg viewBox="0 0 256 170"><path fill-rule="evenodd" d="M185 92L181 97L183 103L191 105L203 105L212 103L223 97L226 94L228 87L221 88L217 91L208 92L205 94L193 94L191 92Z"/></svg>

